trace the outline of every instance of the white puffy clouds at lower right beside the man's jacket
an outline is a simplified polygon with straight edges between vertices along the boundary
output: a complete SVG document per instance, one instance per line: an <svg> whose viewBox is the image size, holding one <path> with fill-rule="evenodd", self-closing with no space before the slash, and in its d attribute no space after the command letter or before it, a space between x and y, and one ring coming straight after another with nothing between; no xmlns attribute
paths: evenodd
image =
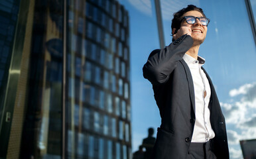
<svg viewBox="0 0 256 159"><path fill-rule="evenodd" d="M230 158L243 158L239 140L256 138L256 82L229 91L229 103L220 103L227 123ZM230 130L230 127L235 127Z"/></svg>

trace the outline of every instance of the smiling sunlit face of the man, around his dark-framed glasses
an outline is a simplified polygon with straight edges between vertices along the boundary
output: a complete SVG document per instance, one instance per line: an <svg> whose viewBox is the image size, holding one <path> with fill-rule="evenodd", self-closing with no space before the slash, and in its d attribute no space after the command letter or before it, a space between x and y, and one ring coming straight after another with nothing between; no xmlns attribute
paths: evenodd
<svg viewBox="0 0 256 159"><path fill-rule="evenodd" d="M204 17L199 11L188 11L184 13L184 15L182 15L182 17L185 16ZM207 33L207 26L202 25L199 19L196 19L196 23L194 23L193 25L186 23L186 21L184 20L182 21L180 26L187 26L191 28L191 36L194 40L194 44L202 44L204 42Z"/></svg>

